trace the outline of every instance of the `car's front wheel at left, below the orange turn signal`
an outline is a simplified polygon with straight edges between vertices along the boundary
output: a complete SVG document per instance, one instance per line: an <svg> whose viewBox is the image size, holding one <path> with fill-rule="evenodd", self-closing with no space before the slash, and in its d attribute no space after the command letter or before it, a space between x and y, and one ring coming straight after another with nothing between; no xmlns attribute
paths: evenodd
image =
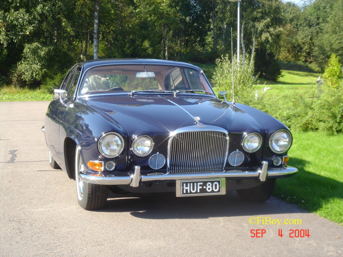
<svg viewBox="0 0 343 257"><path fill-rule="evenodd" d="M75 180L76 180L76 197L79 205L85 210L98 210L106 205L108 186L90 184L82 181L78 173L83 172L84 165L80 155L79 147L75 151Z"/></svg>

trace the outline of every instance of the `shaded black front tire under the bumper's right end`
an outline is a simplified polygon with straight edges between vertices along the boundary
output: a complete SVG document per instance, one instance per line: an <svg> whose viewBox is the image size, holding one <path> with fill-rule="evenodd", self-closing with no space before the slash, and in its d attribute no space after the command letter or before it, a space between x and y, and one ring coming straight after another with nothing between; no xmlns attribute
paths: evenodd
<svg viewBox="0 0 343 257"><path fill-rule="evenodd" d="M263 184L248 188L237 189L240 198L250 202L264 202L267 201L273 194L276 179L265 181Z"/></svg>

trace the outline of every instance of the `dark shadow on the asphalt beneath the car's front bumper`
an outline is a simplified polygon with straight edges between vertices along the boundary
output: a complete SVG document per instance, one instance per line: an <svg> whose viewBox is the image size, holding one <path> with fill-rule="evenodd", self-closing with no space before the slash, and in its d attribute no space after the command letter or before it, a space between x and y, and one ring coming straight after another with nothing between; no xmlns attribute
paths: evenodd
<svg viewBox="0 0 343 257"><path fill-rule="evenodd" d="M130 212L142 219L207 219L306 212L274 197L263 203L250 203L240 199L236 191L200 197L176 197L175 193L118 195L111 192L106 207L98 211Z"/></svg>

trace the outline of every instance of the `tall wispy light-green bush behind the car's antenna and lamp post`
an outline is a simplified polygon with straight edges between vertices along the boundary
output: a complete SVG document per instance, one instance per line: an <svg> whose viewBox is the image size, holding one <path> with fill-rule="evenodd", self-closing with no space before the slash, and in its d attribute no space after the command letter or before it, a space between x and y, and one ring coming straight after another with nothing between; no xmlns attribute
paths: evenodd
<svg viewBox="0 0 343 257"><path fill-rule="evenodd" d="M235 101L249 105L255 100L256 78L253 76L254 60L246 59L246 65L237 65L237 57L233 58L233 63L228 55L216 60L217 67L213 73L212 82L216 90L231 92L232 96L232 67L234 74Z"/></svg>

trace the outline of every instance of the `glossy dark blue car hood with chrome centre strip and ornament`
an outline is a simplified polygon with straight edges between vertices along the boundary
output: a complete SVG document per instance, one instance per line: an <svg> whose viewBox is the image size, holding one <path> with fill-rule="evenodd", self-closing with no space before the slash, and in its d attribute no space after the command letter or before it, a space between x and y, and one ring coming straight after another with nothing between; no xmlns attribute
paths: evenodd
<svg viewBox="0 0 343 257"><path fill-rule="evenodd" d="M229 133L265 133L256 119L216 98L126 95L89 98L86 104L109 115L129 136L169 135L180 127L194 126L197 121Z"/></svg>

